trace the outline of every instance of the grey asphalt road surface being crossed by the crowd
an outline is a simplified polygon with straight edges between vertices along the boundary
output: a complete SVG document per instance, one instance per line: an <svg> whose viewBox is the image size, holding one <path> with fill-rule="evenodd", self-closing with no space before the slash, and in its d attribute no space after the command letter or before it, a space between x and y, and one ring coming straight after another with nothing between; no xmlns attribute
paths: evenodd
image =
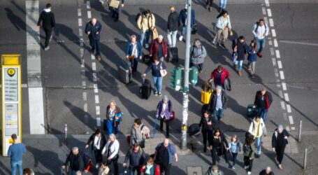
<svg viewBox="0 0 318 175"><path fill-rule="evenodd" d="M45 6L45 1L40 1L40 8ZM26 52L26 23L24 1L3 1L0 6L0 52L1 54L19 53L22 55L22 83L27 83L27 55ZM120 59L124 58L124 50L129 40L129 35L138 35L135 16L138 11L150 9L156 17L159 34L166 39L166 20L168 18L168 4L153 5L127 5L120 12L120 21L113 22L107 6L101 6L98 1L91 1L87 8L85 1L55 1L52 2L52 11L55 13L57 25L54 37L50 43L50 50L41 50L42 84L44 87L45 127L47 132L61 134L64 124L68 124L69 134L92 133L97 127L96 118L105 118L106 106L110 99L115 99L117 105L124 112L124 120L120 125L120 132L129 133L134 118L143 118L143 122L152 126L157 103L161 97L150 96L150 99L140 99L139 87L142 83L141 75L145 71L145 64L139 64L138 73L129 85L124 85L118 80L117 66ZM176 6L179 11L184 7L180 3ZM231 73L233 90L229 92L229 108L226 109L220 127L226 131L245 131L249 120L246 118L246 106L254 100L254 93L261 87L266 87L272 92L274 102L268 112L268 130L274 130L279 124L288 126L290 130L298 130L299 120L303 120L303 130L317 130L317 3L274 3L266 6L263 3L228 4L227 10L231 16L234 36L243 35L246 42L252 39L252 25L264 16L273 19L277 37L270 34L268 41L277 38L277 47L268 45L263 51L263 58L256 64L256 78L247 76L244 66L243 76L238 77L231 63L231 41L226 43L227 49L215 48L210 40L215 36L215 18L217 11L211 13L205 10L200 1L194 1L192 6L196 10L196 23L198 32L191 36L200 38L208 50L205 58L204 71L199 76L196 87L190 88L189 124L198 123L201 111L201 85L210 77L210 72L222 64ZM266 8L263 14L262 8ZM268 8L271 15L268 14ZM81 15L78 15L80 9ZM101 31L101 57L97 62L91 59L87 50L88 41L85 34L80 36L79 29L84 30L85 23L89 20L87 11L92 17L97 18L103 25ZM82 20L79 26L78 18ZM271 32L270 32L271 33ZM43 36L41 31L41 36ZM84 45L80 45L83 38ZM234 37L231 37L234 38ZM44 42L41 38L42 43ZM185 43L178 41L180 62L168 63L168 69L173 66L183 66L185 57ZM280 50L282 67L273 64L270 48ZM80 49L84 49L81 55ZM147 53L146 50L144 50ZM82 57L81 57L82 56ZM85 59L84 67L81 66L82 58ZM96 65L96 70L94 65ZM246 64L246 62L245 62ZM284 79L275 69L284 71ZM96 73L96 81L93 73ZM150 78L148 75L147 78ZM279 81L277 81L279 80ZM83 81L85 87L83 88ZM172 132L180 132L182 94L175 92L168 86L168 77L164 78L163 94L168 94L173 102L176 118L171 128ZM282 89L286 83L287 90ZM94 90L98 86L98 92ZM29 134L29 106L27 89L23 88L22 115L23 133ZM84 93L84 94L83 94ZM288 94L288 100L285 97ZM86 96L86 97L83 97ZM96 103L98 96L98 103ZM282 108L284 102L284 108ZM286 104L290 104L290 113ZM86 110L87 105L87 110ZM97 107L96 109L96 106ZM99 109L98 109L99 108ZM99 111L99 112L98 112ZM289 119L292 116L293 123Z"/></svg>

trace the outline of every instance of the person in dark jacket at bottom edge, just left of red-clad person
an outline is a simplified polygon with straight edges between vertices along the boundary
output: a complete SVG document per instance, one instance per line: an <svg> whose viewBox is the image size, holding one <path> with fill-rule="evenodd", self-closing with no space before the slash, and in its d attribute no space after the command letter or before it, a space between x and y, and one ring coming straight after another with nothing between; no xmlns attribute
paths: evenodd
<svg viewBox="0 0 318 175"><path fill-rule="evenodd" d="M145 152L140 148L138 143L133 144L133 147L127 151L123 167L126 167L129 160L129 174L133 175L137 171L137 174L140 175L140 169L145 163Z"/></svg>

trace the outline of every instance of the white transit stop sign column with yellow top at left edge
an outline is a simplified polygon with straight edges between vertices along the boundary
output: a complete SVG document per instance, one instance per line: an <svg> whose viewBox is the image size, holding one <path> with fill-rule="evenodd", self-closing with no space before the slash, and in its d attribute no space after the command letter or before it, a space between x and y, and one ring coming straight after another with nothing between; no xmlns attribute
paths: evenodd
<svg viewBox="0 0 318 175"><path fill-rule="evenodd" d="M1 55L2 155L13 143L11 134L21 135L21 55Z"/></svg>

